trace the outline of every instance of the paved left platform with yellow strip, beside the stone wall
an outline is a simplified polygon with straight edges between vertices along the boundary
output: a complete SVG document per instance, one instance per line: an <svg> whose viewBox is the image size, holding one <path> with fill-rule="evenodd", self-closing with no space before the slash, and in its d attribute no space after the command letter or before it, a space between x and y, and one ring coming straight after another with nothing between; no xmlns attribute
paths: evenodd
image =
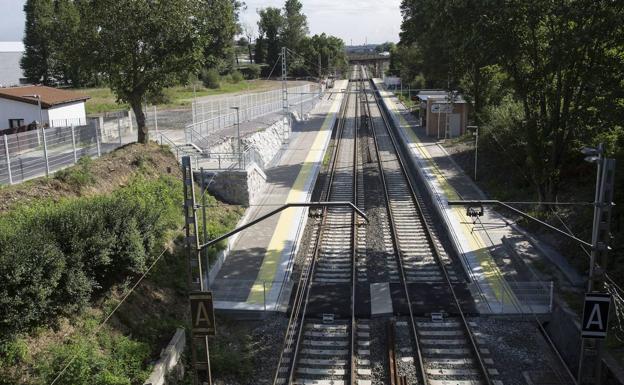
<svg viewBox="0 0 624 385"><path fill-rule="evenodd" d="M346 88L346 81L335 88ZM285 203L309 202L319 174L342 94L327 94L309 119L296 122L274 167L266 170L267 187L250 206L243 223ZM283 311L289 277L307 219L306 208L289 208L243 231L233 243L215 279L209 283L215 308L223 311Z"/></svg>

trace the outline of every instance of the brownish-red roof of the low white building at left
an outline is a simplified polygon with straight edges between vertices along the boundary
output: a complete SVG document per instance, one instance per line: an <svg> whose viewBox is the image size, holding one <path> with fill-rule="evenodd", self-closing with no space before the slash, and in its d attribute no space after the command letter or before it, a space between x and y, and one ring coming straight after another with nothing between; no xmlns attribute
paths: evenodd
<svg viewBox="0 0 624 385"><path fill-rule="evenodd" d="M17 100L28 104L37 104L37 98L41 98L41 107L50 108L60 104L85 101L90 97L76 91L61 90L46 86L24 86L0 88L0 98Z"/></svg>

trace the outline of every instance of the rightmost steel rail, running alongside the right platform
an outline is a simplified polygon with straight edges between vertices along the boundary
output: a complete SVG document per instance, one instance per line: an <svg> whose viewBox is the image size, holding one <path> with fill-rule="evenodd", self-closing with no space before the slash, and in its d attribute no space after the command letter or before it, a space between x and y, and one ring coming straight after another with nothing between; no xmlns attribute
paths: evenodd
<svg viewBox="0 0 624 385"><path fill-rule="evenodd" d="M372 84L372 82L371 82ZM470 325L468 324L468 320L466 319L466 315L464 314L464 311L461 308L461 304L459 302L459 299L457 298L457 294L455 293L455 289L453 288L453 284L450 280L450 277L448 275L448 271L446 270L446 267L444 266L444 263L442 263L442 260L440 258L440 250L438 250L438 246L436 245L436 243L434 242L433 239L433 230L431 228L431 226L429 225L429 223L424 219L424 213L423 213L423 208L420 204L420 201L418 200L418 195L416 193L416 190L414 189L414 186L412 184L412 181L410 179L409 174L407 173L407 168L405 166L405 162L403 160L403 156L401 151L399 150L399 146L397 144L396 138L394 137L394 133L392 132L392 127L393 125L390 123L388 116L387 116L387 112L385 110L385 107L383 105L383 103L380 101L381 95L378 93L378 90L376 89L376 87L373 84L373 97L375 98L375 102L377 104L377 106L379 107L380 113L381 113L381 117L384 120L384 125L386 127L386 129L388 130L388 136L392 142L392 145L395 149L396 152L396 156L397 156L397 160L399 162L399 164L401 165L401 171L405 177L405 180L407 181L407 185L409 187L410 193L412 195L412 199L414 200L414 203L416 205L416 208L420 214L420 218L421 218L421 222L424 225L425 228L425 234L427 235L427 240L429 242L429 244L431 245L431 249L433 251L433 255L435 257L435 259L438 262L438 265L440 266L443 274L444 274L444 278L450 288L451 291L451 295L453 297L453 301L455 303L455 306L457 307L457 310L459 312L459 315L461 317L462 320L462 326L464 327L464 330L466 331L466 334L468 336L468 339L470 340L470 344L471 347L473 349L473 352L477 358L477 361L479 362L479 369L481 371L481 374L483 376L483 380L485 381L485 383L487 385L492 385L492 380L490 379L489 373L487 371L487 368L485 367L485 364L483 362L483 357L481 357L481 353L479 352L479 347L477 346L476 343L476 338L474 337L474 334L470 328ZM388 202L389 204L389 202ZM411 310L411 306L410 306L410 310ZM414 329L415 332L415 329ZM423 377L426 377L425 372L423 372ZM427 384L427 381L425 380L424 384Z"/></svg>

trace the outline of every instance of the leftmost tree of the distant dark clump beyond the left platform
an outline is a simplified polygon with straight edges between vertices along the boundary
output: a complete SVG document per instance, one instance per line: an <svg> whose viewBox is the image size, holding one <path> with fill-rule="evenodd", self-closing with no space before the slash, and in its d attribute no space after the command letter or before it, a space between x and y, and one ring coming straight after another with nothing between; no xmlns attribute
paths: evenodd
<svg viewBox="0 0 624 385"><path fill-rule="evenodd" d="M282 11L279 8L267 7L258 11L260 20L258 21L259 38L256 45L260 46L256 49L256 62L258 61L258 49L265 49L266 55L260 52L260 58L264 58L262 63L273 66L279 58L281 47L280 31L284 25ZM265 48L266 47L266 48Z"/></svg>

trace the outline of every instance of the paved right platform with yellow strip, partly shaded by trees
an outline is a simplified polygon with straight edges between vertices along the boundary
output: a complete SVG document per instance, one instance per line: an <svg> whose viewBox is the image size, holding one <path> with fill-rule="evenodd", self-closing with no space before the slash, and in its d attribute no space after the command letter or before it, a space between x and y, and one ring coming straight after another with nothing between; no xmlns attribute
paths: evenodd
<svg viewBox="0 0 624 385"><path fill-rule="evenodd" d="M411 114L381 79L375 79L383 101L407 144L413 164L432 197L434 206L471 281L471 291L480 313L526 314L551 311L552 286L548 282L523 282L503 274L501 264L511 263L505 239L519 235L501 215L485 210L473 221L466 208L449 207L449 200L485 199L483 192L453 162L444 148L425 135ZM497 263L498 262L498 263Z"/></svg>

